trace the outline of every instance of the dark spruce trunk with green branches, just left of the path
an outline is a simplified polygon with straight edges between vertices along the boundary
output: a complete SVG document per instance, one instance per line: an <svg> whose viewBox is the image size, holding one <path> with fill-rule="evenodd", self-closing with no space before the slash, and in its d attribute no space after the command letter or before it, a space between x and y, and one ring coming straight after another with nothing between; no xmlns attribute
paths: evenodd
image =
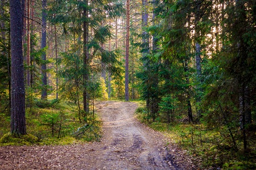
<svg viewBox="0 0 256 170"><path fill-rule="evenodd" d="M84 0L84 3L86 6L88 6L88 0ZM86 19L88 19L88 9L86 9L86 7L84 7L84 111L87 112L89 108L87 108L87 82L88 82L88 48L87 48L87 44L88 44L88 22L86 22Z"/></svg>

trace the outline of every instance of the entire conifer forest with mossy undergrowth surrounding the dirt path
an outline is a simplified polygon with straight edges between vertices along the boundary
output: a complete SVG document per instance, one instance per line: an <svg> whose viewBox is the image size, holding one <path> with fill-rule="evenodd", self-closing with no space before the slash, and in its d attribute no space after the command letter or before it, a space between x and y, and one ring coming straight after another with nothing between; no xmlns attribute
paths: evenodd
<svg viewBox="0 0 256 170"><path fill-rule="evenodd" d="M0 14L0 150L101 141L111 100L198 168L256 168L255 1L0 0Z"/></svg>

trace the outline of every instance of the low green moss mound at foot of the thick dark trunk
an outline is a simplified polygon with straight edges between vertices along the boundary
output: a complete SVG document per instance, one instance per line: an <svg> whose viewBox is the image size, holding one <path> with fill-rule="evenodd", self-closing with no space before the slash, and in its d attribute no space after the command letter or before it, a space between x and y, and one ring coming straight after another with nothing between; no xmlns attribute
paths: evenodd
<svg viewBox="0 0 256 170"><path fill-rule="evenodd" d="M38 142L38 138L34 135L18 135L7 133L0 139L0 145L34 145Z"/></svg>

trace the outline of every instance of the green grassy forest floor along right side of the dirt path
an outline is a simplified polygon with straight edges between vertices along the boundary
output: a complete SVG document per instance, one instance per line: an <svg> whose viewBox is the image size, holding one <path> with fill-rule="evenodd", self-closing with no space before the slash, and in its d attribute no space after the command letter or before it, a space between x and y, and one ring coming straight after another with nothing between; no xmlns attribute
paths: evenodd
<svg viewBox="0 0 256 170"><path fill-rule="evenodd" d="M250 150L243 151L242 143L237 141L238 151L235 151L225 137L222 129L207 129L204 125L193 125L181 122L166 124L147 121L147 112L140 104L137 118L150 128L162 131L171 143L187 150L193 163L203 169L256 169L255 141L251 142Z"/></svg>

